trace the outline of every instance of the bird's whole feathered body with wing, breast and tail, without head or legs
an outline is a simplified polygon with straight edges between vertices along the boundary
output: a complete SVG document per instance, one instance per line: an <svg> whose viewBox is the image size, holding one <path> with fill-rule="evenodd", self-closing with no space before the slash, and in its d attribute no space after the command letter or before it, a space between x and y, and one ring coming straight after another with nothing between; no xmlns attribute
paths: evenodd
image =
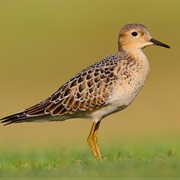
<svg viewBox="0 0 180 180"><path fill-rule="evenodd" d="M149 73L147 62L144 54L137 59L124 52L110 55L77 73L45 101L2 122L102 119L133 101Z"/></svg>

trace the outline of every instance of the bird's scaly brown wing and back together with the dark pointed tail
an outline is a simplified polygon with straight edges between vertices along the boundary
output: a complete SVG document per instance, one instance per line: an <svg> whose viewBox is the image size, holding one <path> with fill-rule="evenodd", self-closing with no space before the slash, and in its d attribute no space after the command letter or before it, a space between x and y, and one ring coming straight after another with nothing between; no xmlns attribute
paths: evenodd
<svg viewBox="0 0 180 180"><path fill-rule="evenodd" d="M104 58L76 74L45 101L4 117L0 121L7 125L31 121L30 118L46 115L55 116L91 111L106 105L118 78L119 61L117 54Z"/></svg>

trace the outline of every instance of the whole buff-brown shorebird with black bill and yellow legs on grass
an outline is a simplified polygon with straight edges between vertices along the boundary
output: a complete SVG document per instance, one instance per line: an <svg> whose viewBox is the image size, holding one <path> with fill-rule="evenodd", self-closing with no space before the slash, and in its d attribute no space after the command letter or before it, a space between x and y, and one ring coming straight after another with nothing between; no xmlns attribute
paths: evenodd
<svg viewBox="0 0 180 180"><path fill-rule="evenodd" d="M83 69L50 97L0 119L4 125L22 122L64 121L88 118L87 138L94 158L102 160L97 132L102 119L128 107L143 87L150 65L143 49L150 45L170 48L151 37L142 24L127 24L118 34L118 52Z"/></svg>

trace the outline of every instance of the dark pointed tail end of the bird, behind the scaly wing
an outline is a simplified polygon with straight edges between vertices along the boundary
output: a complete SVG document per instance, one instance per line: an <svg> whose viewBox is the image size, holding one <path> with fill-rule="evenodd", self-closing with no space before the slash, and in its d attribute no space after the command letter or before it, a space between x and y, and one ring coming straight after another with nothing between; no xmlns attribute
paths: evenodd
<svg viewBox="0 0 180 180"><path fill-rule="evenodd" d="M44 116L49 114L45 111L49 104L50 101L47 99L39 104L36 104L35 106L25 109L24 111L6 116L0 119L0 122L4 123L6 126L12 123L34 122L37 121L37 119L41 120L44 118Z"/></svg>

